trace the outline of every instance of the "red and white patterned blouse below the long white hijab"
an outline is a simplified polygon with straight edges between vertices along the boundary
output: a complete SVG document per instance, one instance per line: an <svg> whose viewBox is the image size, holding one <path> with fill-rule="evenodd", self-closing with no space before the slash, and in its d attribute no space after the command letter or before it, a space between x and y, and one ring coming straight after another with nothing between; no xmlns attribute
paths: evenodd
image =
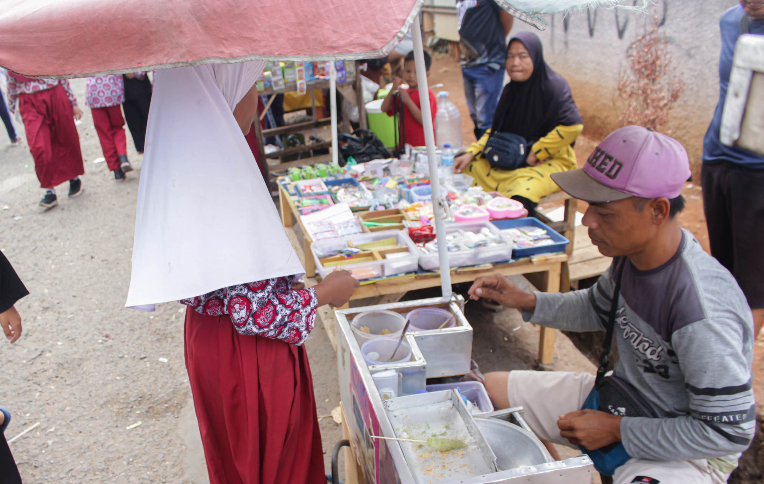
<svg viewBox="0 0 764 484"><path fill-rule="evenodd" d="M239 334L305 343L316 322L316 289L292 289L293 279L278 277L228 286L179 302L200 315L228 315Z"/></svg>

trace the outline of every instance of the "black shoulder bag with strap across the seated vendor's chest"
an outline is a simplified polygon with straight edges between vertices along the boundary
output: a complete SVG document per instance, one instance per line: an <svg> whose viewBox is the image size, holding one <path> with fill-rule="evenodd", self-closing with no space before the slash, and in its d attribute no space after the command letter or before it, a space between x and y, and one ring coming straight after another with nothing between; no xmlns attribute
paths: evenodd
<svg viewBox="0 0 764 484"><path fill-rule="evenodd" d="M624 266L626 266L626 257L621 261L616 276L613 302L610 304L610 314L605 325L605 342L602 345L600 366L597 368L597 380L581 410L591 408L621 417L656 418L657 415L647 404L645 398L629 382L614 375L605 376L607 366L610 364L610 350L613 345L613 332L615 330ZM612 476L618 467L623 466L627 460L631 459L629 453L626 452L626 448L620 442L601 447L597 450L586 450L584 447L579 447L581 452L586 453L591 458L594 467L606 476Z"/></svg>

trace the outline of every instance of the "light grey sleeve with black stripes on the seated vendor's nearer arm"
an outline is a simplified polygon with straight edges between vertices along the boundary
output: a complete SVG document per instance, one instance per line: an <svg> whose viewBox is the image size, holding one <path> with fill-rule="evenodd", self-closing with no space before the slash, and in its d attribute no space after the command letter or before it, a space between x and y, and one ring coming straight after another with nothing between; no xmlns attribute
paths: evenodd
<svg viewBox="0 0 764 484"><path fill-rule="evenodd" d="M746 450L756 429L751 362L740 322L704 319L674 331L672 346L685 374L690 415L623 418L621 439L631 457L696 460ZM669 375L670 376L670 375Z"/></svg>

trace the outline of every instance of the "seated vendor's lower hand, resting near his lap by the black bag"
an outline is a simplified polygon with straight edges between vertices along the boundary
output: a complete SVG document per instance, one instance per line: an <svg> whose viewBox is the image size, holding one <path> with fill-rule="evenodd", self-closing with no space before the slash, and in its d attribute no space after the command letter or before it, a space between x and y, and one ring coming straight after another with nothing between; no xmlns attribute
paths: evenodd
<svg viewBox="0 0 764 484"><path fill-rule="evenodd" d="M621 441L621 418L623 417L610 415L606 411L587 408L560 415L557 426L560 435L570 440L571 444L581 445L586 450L595 450Z"/></svg>

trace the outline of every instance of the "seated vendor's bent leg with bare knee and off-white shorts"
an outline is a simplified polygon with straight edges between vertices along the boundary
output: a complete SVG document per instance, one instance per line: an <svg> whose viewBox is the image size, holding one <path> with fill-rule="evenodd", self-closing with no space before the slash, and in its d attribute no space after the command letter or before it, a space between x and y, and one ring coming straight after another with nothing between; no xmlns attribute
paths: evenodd
<svg viewBox="0 0 764 484"><path fill-rule="evenodd" d="M581 410L591 389L594 375L572 372L515 370L486 373L486 390L497 408L522 406L529 427L541 440L578 449L560 437L560 415Z"/></svg>

